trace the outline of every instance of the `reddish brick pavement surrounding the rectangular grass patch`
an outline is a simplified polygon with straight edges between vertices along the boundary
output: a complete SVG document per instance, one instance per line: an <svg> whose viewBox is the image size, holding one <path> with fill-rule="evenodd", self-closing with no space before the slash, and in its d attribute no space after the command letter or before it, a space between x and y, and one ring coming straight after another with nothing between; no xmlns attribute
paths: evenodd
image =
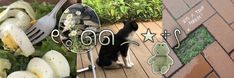
<svg viewBox="0 0 234 78"><path fill-rule="evenodd" d="M163 4L163 29L173 33L179 28L180 41L202 25L215 39L188 64L173 65L165 77L234 77L234 0L163 0ZM171 48L177 45L173 35L166 42ZM179 61L176 53L171 56Z"/></svg>

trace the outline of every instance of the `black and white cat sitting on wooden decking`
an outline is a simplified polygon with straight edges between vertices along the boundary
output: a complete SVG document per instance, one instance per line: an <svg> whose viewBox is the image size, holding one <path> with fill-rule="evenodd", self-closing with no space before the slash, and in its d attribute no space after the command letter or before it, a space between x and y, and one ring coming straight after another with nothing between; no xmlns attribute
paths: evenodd
<svg viewBox="0 0 234 78"><path fill-rule="evenodd" d="M100 67L120 68L123 65L121 62L117 62L120 55L126 67L130 68L134 65L130 60L128 52L129 43L126 42L132 41L133 35L138 30L138 25L135 20L124 21L123 24L124 27L115 34L114 45L109 44L101 46L99 57L96 60L97 65ZM109 36L109 38L111 38L111 36ZM110 40L112 40L112 38ZM103 43L107 41L107 39L104 39Z"/></svg>

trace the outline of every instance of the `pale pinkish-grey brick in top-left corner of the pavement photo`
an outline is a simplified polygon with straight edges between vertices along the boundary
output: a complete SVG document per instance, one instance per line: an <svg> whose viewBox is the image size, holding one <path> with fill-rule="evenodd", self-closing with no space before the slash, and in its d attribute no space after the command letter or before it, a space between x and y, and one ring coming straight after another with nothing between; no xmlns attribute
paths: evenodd
<svg viewBox="0 0 234 78"><path fill-rule="evenodd" d="M180 17L189 10L183 0L163 0L163 4L175 18Z"/></svg>

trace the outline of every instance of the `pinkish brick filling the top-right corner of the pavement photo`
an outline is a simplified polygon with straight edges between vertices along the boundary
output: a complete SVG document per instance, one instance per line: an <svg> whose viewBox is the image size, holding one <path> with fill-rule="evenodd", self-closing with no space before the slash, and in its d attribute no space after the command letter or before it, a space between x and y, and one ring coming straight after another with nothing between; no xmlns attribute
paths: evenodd
<svg viewBox="0 0 234 78"><path fill-rule="evenodd" d="M208 1L229 24L234 22L234 4L231 2L231 0Z"/></svg>

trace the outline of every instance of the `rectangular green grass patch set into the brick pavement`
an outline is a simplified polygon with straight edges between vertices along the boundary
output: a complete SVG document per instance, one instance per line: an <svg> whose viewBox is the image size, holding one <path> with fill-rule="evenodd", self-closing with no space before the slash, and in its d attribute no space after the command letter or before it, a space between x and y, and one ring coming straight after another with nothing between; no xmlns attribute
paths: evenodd
<svg viewBox="0 0 234 78"><path fill-rule="evenodd" d="M188 37L181 42L181 46L178 49L174 48L174 51L181 62L187 64L212 42L214 42L213 37L205 27L201 26L190 33Z"/></svg>

